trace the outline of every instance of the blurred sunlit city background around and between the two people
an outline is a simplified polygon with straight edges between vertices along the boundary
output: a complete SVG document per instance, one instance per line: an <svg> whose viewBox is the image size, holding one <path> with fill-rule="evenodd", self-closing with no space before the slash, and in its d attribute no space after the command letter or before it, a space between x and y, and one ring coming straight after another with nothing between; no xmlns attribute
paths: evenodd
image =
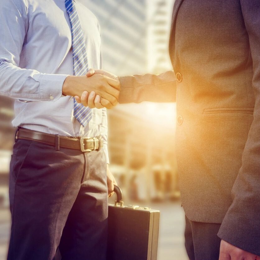
<svg viewBox="0 0 260 260"><path fill-rule="evenodd" d="M118 76L172 70L168 41L174 0L79 1L100 22L103 69ZM149 102L108 111L110 170L125 204L161 211L159 260L188 259L175 161L175 114L175 104ZM0 260L6 259L10 230L13 117L13 101L0 96Z"/></svg>

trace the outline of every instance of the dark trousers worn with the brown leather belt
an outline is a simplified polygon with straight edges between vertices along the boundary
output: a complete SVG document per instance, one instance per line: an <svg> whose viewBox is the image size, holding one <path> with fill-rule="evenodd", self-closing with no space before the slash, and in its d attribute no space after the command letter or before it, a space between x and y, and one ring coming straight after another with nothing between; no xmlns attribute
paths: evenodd
<svg viewBox="0 0 260 260"><path fill-rule="evenodd" d="M106 259L104 151L17 140L10 163L8 260Z"/></svg>

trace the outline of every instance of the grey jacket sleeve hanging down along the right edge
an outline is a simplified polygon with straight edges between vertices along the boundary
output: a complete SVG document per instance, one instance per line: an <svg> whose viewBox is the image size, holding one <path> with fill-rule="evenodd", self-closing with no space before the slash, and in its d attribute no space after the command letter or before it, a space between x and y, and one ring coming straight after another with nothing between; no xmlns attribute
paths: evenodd
<svg viewBox="0 0 260 260"><path fill-rule="evenodd" d="M233 203L218 236L260 256L260 1L240 0L240 4L253 60L255 107L242 166L232 188Z"/></svg>

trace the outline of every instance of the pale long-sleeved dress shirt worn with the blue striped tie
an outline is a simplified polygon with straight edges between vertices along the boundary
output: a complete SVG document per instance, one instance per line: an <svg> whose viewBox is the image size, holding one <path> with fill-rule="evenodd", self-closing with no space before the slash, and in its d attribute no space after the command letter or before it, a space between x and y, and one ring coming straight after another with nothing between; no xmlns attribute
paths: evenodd
<svg viewBox="0 0 260 260"><path fill-rule="evenodd" d="M101 68L99 25L75 2L89 68ZM73 99L62 95L73 75L72 35L64 0L0 1L0 95L15 100L14 127L63 136L99 136L107 162L106 109L92 109L84 128L73 117Z"/></svg>

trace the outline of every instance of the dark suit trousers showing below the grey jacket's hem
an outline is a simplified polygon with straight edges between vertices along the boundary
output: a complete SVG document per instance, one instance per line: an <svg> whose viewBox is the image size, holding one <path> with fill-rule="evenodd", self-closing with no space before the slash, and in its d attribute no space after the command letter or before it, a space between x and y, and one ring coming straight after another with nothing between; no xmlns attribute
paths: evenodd
<svg viewBox="0 0 260 260"><path fill-rule="evenodd" d="M185 216L185 248L190 260L218 260L221 224L195 222Z"/></svg>

